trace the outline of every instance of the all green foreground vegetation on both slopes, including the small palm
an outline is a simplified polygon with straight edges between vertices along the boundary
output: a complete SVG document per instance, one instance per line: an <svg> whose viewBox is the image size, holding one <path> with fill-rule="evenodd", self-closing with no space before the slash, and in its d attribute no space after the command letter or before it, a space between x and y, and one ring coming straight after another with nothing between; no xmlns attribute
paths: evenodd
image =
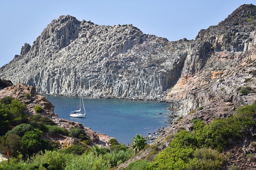
<svg viewBox="0 0 256 170"><path fill-rule="evenodd" d="M111 139L111 148L91 145L79 127L58 127L46 116L24 114L25 105L12 97L0 99L0 152L10 150L11 161L3 161L0 169L111 169L142 150L145 138L133 137L132 147ZM132 162L126 169L221 169L225 158L220 154L233 140L255 129L256 103L237 108L236 114L216 119L209 125L193 120L192 131L180 129L169 136L170 144L147 145L150 152ZM59 143L47 141L42 134L62 134L76 138L76 144L60 150ZM134 152L135 150L135 152ZM159 152L159 153L158 153ZM250 155L248 155L250 156ZM89 168L90 167L90 168Z"/></svg>

